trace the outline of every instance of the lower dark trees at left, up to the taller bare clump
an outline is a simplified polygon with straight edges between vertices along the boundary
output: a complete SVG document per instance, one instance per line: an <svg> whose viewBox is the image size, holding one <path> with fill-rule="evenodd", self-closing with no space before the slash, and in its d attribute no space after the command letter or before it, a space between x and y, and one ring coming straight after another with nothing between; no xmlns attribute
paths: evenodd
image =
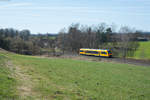
<svg viewBox="0 0 150 100"><path fill-rule="evenodd" d="M55 42L50 34L31 34L29 30L0 29L0 48L26 54L39 55L43 49L50 48Z"/></svg>

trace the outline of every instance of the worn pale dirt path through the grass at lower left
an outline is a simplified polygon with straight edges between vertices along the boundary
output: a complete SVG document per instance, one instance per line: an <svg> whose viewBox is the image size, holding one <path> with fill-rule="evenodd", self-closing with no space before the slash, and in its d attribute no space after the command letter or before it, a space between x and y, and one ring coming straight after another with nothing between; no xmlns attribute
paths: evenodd
<svg viewBox="0 0 150 100"><path fill-rule="evenodd" d="M18 81L17 90L19 100L40 100L37 98L39 94L33 91L35 83L34 80L31 79L31 76L26 73L27 70L21 68L20 66L15 66L12 61L7 62L7 67L14 72L12 76Z"/></svg>

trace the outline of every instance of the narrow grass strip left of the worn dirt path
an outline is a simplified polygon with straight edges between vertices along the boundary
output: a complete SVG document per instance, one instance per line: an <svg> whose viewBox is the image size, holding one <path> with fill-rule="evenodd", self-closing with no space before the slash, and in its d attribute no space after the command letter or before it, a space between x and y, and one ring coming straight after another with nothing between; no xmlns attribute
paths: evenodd
<svg viewBox="0 0 150 100"><path fill-rule="evenodd" d="M17 99L16 85L11 70L8 68L8 58L0 54L0 100Z"/></svg>

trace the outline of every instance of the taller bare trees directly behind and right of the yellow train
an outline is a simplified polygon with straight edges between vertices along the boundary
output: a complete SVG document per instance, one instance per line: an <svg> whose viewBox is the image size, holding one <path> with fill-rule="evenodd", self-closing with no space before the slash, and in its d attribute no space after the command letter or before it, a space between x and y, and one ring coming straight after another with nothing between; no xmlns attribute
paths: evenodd
<svg viewBox="0 0 150 100"><path fill-rule="evenodd" d="M139 46L140 31L121 27L118 32L114 26L102 23L97 26L72 24L59 32L57 42L62 51L79 52L80 48L110 49L114 56L133 56Z"/></svg>

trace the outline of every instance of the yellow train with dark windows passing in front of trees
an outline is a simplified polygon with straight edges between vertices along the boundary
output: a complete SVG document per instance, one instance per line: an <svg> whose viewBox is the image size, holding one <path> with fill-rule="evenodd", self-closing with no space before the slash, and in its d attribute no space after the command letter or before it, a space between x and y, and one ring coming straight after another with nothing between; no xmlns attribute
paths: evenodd
<svg viewBox="0 0 150 100"><path fill-rule="evenodd" d="M112 57L111 50L108 49L86 49L81 48L80 55L92 55L92 56L101 56L101 57Z"/></svg>

